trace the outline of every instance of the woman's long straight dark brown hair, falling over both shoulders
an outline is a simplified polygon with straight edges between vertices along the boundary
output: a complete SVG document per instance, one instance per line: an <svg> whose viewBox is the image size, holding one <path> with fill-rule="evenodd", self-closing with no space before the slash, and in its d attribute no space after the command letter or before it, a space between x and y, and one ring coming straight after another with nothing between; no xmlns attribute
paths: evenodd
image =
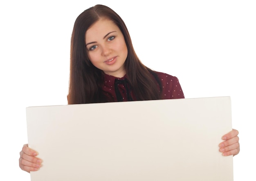
<svg viewBox="0 0 256 181"><path fill-rule="evenodd" d="M112 20L124 35L128 49L124 66L136 100L160 99L161 83L157 75L144 66L137 57L124 21L109 7L98 4L83 11L74 23L70 49L68 104L108 102L101 89L104 73L90 62L85 47L86 31L100 18Z"/></svg>

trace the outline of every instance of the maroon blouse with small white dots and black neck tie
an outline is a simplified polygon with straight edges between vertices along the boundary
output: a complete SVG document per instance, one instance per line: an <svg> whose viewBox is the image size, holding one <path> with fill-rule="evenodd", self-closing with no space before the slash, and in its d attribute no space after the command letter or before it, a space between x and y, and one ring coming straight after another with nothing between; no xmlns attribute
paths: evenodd
<svg viewBox="0 0 256 181"><path fill-rule="evenodd" d="M177 77L166 73L155 72L162 83L161 99L180 99L184 98L182 88ZM109 102L136 100L135 95L129 88L126 75L122 78L104 75L103 93ZM118 89L118 90L117 90ZM127 91L130 93L126 94Z"/></svg>

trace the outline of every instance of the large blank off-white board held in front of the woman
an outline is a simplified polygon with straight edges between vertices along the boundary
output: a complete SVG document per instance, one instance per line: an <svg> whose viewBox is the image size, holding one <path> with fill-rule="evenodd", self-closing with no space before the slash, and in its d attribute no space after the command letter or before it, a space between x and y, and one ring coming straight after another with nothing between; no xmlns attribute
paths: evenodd
<svg viewBox="0 0 256 181"><path fill-rule="evenodd" d="M28 107L31 181L233 181L230 97Z"/></svg>

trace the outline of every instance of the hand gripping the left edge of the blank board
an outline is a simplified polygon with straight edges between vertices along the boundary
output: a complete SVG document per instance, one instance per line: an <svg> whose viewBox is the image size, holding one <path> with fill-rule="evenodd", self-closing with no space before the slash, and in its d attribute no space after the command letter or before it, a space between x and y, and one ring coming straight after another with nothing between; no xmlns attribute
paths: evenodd
<svg viewBox="0 0 256 181"><path fill-rule="evenodd" d="M28 144L23 145L20 152L20 168L26 172L36 171L41 167L42 160L37 158L38 153L28 147Z"/></svg>

